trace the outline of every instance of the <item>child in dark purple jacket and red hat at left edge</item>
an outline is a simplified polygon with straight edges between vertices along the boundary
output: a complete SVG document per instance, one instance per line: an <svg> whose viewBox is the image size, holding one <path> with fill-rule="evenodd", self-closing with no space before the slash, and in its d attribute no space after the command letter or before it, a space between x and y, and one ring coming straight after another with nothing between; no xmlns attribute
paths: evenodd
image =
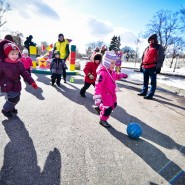
<svg viewBox="0 0 185 185"><path fill-rule="evenodd" d="M15 105L20 100L20 77L37 89L37 84L25 70L20 58L19 48L13 42L6 39L0 42L0 89L7 94L7 101L1 112L8 118L12 117L12 113L17 114Z"/></svg>

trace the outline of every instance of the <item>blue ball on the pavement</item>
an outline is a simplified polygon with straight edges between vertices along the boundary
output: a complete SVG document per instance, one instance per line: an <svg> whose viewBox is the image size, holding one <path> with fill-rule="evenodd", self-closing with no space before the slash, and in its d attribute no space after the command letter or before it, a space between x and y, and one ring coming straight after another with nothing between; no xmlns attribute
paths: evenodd
<svg viewBox="0 0 185 185"><path fill-rule="evenodd" d="M142 134L142 128L138 123L129 123L127 126L127 134L131 138L138 139Z"/></svg>

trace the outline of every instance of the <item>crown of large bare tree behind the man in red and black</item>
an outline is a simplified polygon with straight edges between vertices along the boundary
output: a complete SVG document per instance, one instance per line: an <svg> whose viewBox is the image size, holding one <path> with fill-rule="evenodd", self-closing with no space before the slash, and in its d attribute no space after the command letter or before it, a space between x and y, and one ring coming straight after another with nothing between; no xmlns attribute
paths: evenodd
<svg viewBox="0 0 185 185"><path fill-rule="evenodd" d="M145 36L156 33L159 37L160 44L166 50L169 45L174 44L174 37L180 31L180 14L169 10L160 10L154 15L151 23L147 24Z"/></svg>

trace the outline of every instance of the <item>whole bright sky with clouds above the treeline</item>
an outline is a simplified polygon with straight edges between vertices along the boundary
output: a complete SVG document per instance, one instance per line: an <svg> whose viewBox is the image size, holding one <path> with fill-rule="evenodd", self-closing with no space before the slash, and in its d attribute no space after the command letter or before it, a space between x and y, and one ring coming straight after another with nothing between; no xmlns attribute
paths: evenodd
<svg viewBox="0 0 185 185"><path fill-rule="evenodd" d="M135 47L138 34L159 10L178 11L185 0L6 0L12 11L6 26L19 30L33 41L57 40L59 33L73 41L79 50L87 43L121 36L122 45ZM19 3L18 3L19 2ZM13 17L13 19L12 19ZM1 34L2 35L2 34Z"/></svg>

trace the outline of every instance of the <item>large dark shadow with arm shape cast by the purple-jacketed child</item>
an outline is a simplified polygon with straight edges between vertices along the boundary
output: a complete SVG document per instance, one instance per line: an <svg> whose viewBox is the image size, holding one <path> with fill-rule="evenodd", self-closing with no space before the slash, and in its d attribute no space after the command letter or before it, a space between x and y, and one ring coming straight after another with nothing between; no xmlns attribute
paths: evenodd
<svg viewBox="0 0 185 185"><path fill-rule="evenodd" d="M4 149L0 184L60 185L61 155L57 148L49 152L41 172L33 141L19 117L3 122L10 142Z"/></svg>

